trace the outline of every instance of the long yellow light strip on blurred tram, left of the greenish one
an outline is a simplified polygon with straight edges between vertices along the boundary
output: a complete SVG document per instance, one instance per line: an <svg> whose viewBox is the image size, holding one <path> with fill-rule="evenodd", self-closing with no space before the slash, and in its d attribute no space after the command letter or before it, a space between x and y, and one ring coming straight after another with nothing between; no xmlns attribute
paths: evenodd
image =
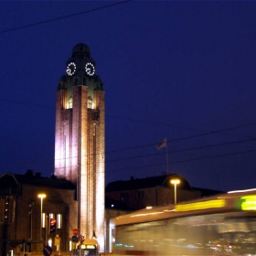
<svg viewBox="0 0 256 256"><path fill-rule="evenodd" d="M225 199L215 199L204 202L191 203L186 205L177 205L176 211L200 210L207 208L224 208L226 205Z"/></svg>

